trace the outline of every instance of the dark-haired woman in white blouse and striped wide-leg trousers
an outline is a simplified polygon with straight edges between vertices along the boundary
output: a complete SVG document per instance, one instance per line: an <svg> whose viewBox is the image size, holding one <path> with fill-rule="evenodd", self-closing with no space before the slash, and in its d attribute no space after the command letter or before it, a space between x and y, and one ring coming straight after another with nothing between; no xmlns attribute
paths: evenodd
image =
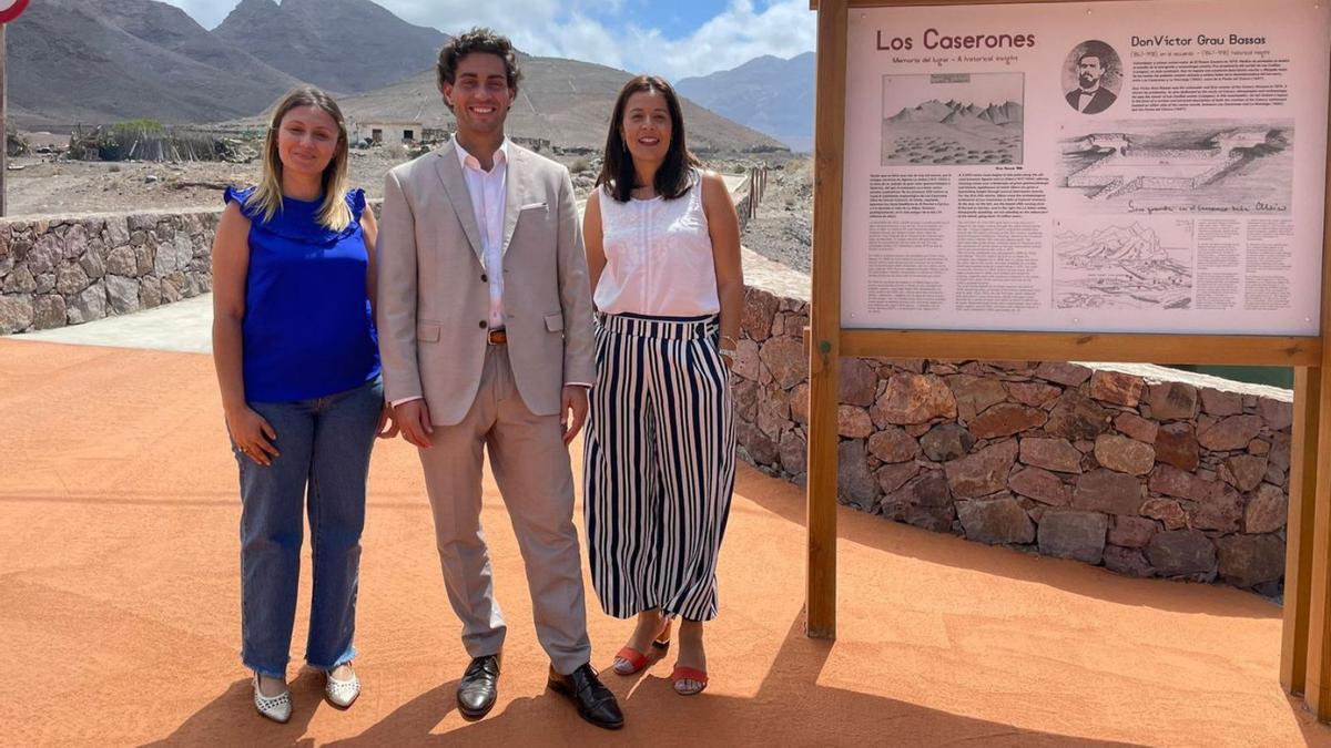
<svg viewBox="0 0 1331 748"><path fill-rule="evenodd" d="M583 217L598 310L583 471L592 584L606 612L638 616L615 672L663 655L680 618L671 679L697 693L735 486L739 218L724 180L688 152L679 97L656 76L620 91L596 184Z"/></svg>

